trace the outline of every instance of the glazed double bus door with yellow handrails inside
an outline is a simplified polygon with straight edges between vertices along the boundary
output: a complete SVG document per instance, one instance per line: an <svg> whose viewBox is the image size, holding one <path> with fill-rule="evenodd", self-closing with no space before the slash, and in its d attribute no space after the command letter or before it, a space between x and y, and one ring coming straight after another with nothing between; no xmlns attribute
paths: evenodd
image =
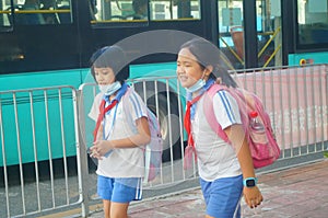
<svg viewBox="0 0 328 218"><path fill-rule="evenodd" d="M235 69L281 65L280 14L280 1L218 0L219 47Z"/></svg>

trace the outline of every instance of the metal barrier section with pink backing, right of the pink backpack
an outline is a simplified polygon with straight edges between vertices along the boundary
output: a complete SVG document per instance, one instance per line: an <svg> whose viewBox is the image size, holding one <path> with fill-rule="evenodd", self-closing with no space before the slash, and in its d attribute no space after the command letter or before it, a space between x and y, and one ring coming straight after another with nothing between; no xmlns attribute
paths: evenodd
<svg viewBox="0 0 328 218"><path fill-rule="evenodd" d="M234 73L262 101L282 154L280 160L327 150L328 65L249 69Z"/></svg>

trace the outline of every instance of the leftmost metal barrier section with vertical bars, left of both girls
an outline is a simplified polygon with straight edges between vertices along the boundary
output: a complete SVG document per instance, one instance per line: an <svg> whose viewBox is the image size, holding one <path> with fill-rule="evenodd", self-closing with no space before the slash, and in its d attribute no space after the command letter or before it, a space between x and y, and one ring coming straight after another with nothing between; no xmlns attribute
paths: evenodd
<svg viewBox="0 0 328 218"><path fill-rule="evenodd" d="M72 87L0 92L0 217L81 203Z"/></svg>

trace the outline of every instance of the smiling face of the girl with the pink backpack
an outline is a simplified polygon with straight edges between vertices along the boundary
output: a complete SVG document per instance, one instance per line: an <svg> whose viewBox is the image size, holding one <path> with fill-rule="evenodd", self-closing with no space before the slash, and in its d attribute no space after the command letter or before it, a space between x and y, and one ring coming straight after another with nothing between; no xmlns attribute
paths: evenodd
<svg viewBox="0 0 328 218"><path fill-rule="evenodd" d="M177 58L178 79L184 88L190 88L204 76L204 68L188 48L183 48Z"/></svg>

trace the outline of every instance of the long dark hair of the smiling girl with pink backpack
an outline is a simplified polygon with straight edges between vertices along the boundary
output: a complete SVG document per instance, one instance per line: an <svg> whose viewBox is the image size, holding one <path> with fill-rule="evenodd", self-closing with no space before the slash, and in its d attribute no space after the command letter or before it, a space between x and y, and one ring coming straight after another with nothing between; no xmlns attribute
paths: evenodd
<svg viewBox="0 0 328 218"><path fill-rule="evenodd" d="M210 78L220 78L221 82L227 87L237 87L237 83L229 74L230 61L225 55L209 41L196 37L181 45L180 49L187 48L203 68L212 66Z"/></svg>

